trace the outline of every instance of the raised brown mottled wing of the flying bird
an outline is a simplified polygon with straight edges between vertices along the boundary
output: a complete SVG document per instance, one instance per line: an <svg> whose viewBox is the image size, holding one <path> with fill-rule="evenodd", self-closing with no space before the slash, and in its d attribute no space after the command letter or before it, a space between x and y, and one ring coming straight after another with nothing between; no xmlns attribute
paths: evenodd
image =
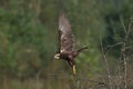
<svg viewBox="0 0 133 89"><path fill-rule="evenodd" d="M61 13L59 17L59 42L60 52L70 53L74 51L74 36L64 13Z"/></svg>

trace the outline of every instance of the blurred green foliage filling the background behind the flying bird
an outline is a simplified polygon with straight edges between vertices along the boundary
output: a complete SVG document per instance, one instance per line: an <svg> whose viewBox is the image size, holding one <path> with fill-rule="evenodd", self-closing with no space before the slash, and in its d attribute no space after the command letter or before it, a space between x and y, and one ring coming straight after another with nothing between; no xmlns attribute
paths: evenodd
<svg viewBox="0 0 133 89"><path fill-rule="evenodd" d="M63 10L75 36L75 49L89 47L76 58L78 73L96 79L102 72L100 36L104 50L124 41L124 27L127 29L132 21L132 0L1 0L0 75L45 77L64 70L70 76L68 65L66 70L65 63L62 65L64 61L53 61L58 50L58 16ZM133 32L129 34L127 47L132 47L132 39ZM121 48L121 44L115 46L109 53L110 59L120 57ZM132 52L132 49L126 50L131 57ZM48 85L54 85L52 79L45 79ZM60 79L57 80L61 82ZM69 79L65 82L66 86L71 85Z"/></svg>

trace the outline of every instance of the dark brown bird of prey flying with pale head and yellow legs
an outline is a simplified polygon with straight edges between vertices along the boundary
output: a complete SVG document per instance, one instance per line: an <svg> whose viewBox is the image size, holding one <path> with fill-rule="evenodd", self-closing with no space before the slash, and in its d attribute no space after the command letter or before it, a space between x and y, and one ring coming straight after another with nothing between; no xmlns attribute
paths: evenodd
<svg viewBox="0 0 133 89"><path fill-rule="evenodd" d="M88 47L74 50L74 36L71 24L63 12L59 16L59 52L54 56L55 59L64 59L72 67L73 75L76 75L75 58Z"/></svg>

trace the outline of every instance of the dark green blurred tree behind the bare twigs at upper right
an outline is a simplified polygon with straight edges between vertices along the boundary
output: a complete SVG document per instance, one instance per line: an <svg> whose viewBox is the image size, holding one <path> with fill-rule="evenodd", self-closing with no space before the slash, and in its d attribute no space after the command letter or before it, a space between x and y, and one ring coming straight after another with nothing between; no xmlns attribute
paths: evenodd
<svg viewBox="0 0 133 89"><path fill-rule="evenodd" d="M115 8L112 8L113 6L110 7L108 9L110 12L105 13L105 21L108 27L106 37L103 39L103 44L105 47L105 50L108 50L110 46L120 43L114 47L113 51L110 53L116 58L120 57L121 42L124 41L127 29L132 29L132 0L123 1L121 2L121 6L119 6L119 9L115 9L117 7L117 4L115 4ZM127 46L132 46L132 33L133 32L129 33L129 39L126 40ZM130 50L132 51L132 49Z"/></svg>

